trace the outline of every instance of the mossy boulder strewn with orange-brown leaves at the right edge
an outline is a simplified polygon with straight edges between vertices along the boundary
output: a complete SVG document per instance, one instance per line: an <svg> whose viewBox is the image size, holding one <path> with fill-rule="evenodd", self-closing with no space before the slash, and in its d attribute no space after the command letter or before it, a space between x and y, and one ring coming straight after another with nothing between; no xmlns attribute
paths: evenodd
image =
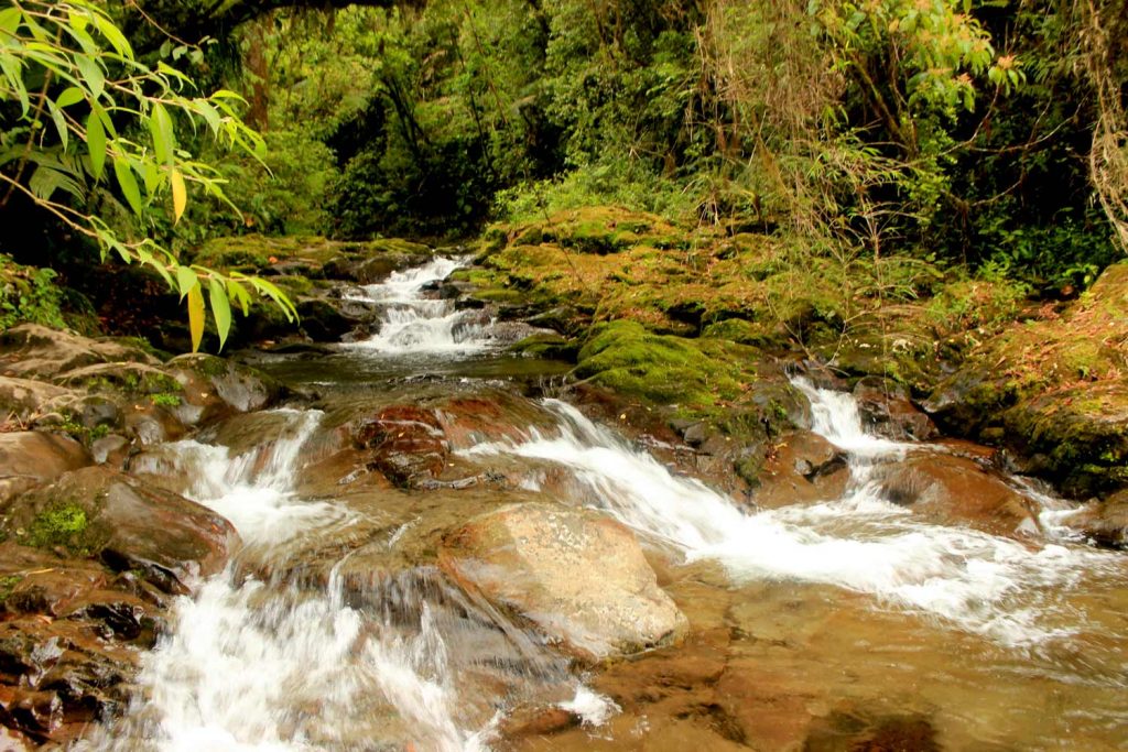
<svg viewBox="0 0 1128 752"><path fill-rule="evenodd" d="M971 351L925 408L950 433L1005 445L1022 469L1086 496L1128 485L1128 264L1064 313Z"/></svg>

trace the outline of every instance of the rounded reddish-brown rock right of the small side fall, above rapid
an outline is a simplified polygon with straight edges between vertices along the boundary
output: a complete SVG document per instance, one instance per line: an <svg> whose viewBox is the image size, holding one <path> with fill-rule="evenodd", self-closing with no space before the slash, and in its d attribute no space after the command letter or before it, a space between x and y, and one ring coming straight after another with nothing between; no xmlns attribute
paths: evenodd
<svg viewBox="0 0 1128 752"><path fill-rule="evenodd" d="M879 470L881 494L942 523L964 522L996 534L1039 529L1034 502L963 457L922 452Z"/></svg>

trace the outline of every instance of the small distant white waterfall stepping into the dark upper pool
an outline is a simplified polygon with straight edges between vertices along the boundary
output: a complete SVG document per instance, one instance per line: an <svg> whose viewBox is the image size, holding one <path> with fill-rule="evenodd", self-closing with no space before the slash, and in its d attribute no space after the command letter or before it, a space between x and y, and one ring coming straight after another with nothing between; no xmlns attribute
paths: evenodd
<svg viewBox="0 0 1128 752"><path fill-rule="evenodd" d="M459 311L453 301L433 300L424 287L446 280L467 259L437 256L423 266L393 272L387 281L361 287L361 300L386 307L380 330L351 347L382 354L469 355L487 350L486 327L475 311Z"/></svg>

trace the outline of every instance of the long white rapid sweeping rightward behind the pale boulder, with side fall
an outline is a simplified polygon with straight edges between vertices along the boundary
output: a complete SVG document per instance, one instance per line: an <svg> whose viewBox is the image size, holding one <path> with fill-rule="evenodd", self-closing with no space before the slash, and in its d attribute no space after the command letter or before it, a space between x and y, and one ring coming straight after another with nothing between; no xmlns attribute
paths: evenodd
<svg viewBox="0 0 1128 752"><path fill-rule="evenodd" d="M752 512L698 480L676 477L574 407L548 400L561 427L531 430L514 443L481 444L469 454L511 453L571 468L583 481L579 503L606 508L644 538L711 559L735 582L823 583L869 593L876 605L1033 647L1085 628L1059 602L1082 577L1120 559L1056 542L1020 542L962 527L928 524L878 494L871 469L897 461L906 444L863 431L853 399L801 384L814 431L846 450L852 479L841 498Z"/></svg>

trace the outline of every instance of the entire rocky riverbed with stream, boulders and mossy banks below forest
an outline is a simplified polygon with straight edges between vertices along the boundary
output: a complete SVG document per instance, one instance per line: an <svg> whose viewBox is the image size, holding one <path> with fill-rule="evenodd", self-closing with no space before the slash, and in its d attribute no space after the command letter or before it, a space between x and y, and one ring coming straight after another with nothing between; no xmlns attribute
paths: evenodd
<svg viewBox="0 0 1128 752"><path fill-rule="evenodd" d="M592 327L529 232L297 248L308 339L223 359L0 335L5 743L1116 749L1121 267L923 389Z"/></svg>

